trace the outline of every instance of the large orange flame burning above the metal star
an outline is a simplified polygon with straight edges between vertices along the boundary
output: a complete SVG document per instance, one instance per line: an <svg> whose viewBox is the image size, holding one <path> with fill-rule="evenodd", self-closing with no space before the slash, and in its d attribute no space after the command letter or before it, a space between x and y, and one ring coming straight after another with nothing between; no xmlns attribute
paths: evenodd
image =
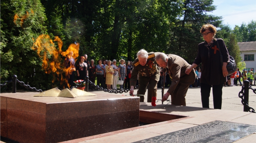
<svg viewBox="0 0 256 143"><path fill-rule="evenodd" d="M60 54L66 57L65 60L68 60L71 58L69 53L73 52L72 58L74 58L75 62L78 57L79 44L70 44L68 49L64 52L62 51L63 42L61 39L56 36L54 41L58 43L58 48L55 48L54 42L50 39L49 35L41 34L34 41L33 47L31 48L37 51L38 56L42 59L42 70L47 74L52 73L54 75L52 82L54 83L56 79L55 75L57 74L57 79L61 81L63 88L65 88L64 84L70 87L68 79L72 72L75 71L75 65L70 64L69 67L66 67L65 62L61 64ZM65 73L65 78L63 78L62 73ZM59 77L59 75L61 76Z"/></svg>

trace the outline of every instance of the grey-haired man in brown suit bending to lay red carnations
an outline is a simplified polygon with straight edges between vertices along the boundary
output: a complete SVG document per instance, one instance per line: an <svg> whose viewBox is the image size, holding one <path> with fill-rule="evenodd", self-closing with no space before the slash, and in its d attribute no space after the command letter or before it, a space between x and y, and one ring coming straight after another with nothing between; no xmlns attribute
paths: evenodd
<svg viewBox="0 0 256 143"><path fill-rule="evenodd" d="M169 95L171 95L171 104L186 106L185 96L188 87L195 82L196 78L194 69L189 75L186 74L186 69L191 65L177 55L159 53L156 55L156 62L163 68L161 72L165 73L168 71L172 79L171 85L164 94L162 101L167 100Z"/></svg>

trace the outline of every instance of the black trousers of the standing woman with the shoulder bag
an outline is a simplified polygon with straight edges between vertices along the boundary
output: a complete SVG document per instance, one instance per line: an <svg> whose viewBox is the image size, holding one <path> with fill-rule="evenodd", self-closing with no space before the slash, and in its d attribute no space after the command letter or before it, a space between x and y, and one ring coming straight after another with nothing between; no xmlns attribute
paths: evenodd
<svg viewBox="0 0 256 143"><path fill-rule="evenodd" d="M209 97L212 85L201 83L201 100L203 108L209 108ZM223 83L213 85L213 106L214 109L221 109Z"/></svg>

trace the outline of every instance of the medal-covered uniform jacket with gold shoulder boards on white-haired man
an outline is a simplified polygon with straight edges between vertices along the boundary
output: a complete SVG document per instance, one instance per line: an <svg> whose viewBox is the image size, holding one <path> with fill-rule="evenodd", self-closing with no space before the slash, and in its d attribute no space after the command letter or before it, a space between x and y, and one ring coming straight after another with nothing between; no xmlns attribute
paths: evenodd
<svg viewBox="0 0 256 143"><path fill-rule="evenodd" d="M132 74L131 74L131 78L130 78L131 86L136 86L138 74L139 74L140 81L149 82L150 79L159 81L159 78L160 78L159 68L157 67L157 65L156 65L157 63L155 60L155 57L158 53L159 52L148 53L149 57L148 57L146 65L144 65L144 66L141 66L139 64L138 58L136 58L134 60L134 62L132 63L133 69L132 69Z"/></svg>

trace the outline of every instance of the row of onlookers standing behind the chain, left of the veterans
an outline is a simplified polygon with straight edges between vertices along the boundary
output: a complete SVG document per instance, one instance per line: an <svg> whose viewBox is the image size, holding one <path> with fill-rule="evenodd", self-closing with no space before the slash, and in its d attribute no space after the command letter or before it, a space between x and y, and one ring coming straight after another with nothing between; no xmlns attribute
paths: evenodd
<svg viewBox="0 0 256 143"><path fill-rule="evenodd" d="M120 89L129 89L130 88L130 77L132 73L132 61L125 61L124 59L119 60L117 65L117 60L97 60L97 65L94 63L94 59L88 60L87 54L79 57L77 64L74 63L72 58L73 53L70 52L66 58L66 68L71 65L76 65L70 69L68 83L72 87L74 80L74 71L76 71L77 80L85 80L85 76L89 76L89 80L95 83L95 78L97 77L97 85L107 90L117 90L117 81L124 81L123 84L120 84ZM72 66L71 66L72 67ZM95 87L89 85L89 90L95 90Z"/></svg>

